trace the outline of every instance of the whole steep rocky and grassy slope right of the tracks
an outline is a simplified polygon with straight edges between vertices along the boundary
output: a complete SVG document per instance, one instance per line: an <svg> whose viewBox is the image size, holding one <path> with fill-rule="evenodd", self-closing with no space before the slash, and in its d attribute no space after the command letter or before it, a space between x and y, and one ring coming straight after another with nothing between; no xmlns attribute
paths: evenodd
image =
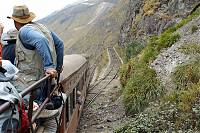
<svg viewBox="0 0 200 133"><path fill-rule="evenodd" d="M116 132L200 131L198 0L130 0L120 43L122 91L132 120Z"/></svg>

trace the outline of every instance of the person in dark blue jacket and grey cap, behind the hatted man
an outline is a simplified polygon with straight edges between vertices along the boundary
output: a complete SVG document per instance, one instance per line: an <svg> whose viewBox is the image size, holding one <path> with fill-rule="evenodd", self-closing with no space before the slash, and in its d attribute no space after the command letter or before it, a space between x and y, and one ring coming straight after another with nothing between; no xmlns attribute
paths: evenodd
<svg viewBox="0 0 200 133"><path fill-rule="evenodd" d="M18 31L16 29L10 29L7 33L2 35L2 59L9 60L12 64L15 61L15 46L17 40Z"/></svg>

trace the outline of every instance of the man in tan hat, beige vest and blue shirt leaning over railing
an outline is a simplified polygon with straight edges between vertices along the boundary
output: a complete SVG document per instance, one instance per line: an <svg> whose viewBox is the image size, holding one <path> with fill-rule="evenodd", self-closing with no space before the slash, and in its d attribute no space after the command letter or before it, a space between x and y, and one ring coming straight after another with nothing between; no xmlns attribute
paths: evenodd
<svg viewBox="0 0 200 133"><path fill-rule="evenodd" d="M23 84L14 83L19 91L44 77L44 74L50 74L55 78L63 65L63 42L44 25L32 22L35 17L25 5L14 6L12 16L8 17L14 20L14 25L19 31L16 42L16 66L20 70L18 77ZM44 100L43 91L41 90L39 95L36 94L36 97L42 97Z"/></svg>

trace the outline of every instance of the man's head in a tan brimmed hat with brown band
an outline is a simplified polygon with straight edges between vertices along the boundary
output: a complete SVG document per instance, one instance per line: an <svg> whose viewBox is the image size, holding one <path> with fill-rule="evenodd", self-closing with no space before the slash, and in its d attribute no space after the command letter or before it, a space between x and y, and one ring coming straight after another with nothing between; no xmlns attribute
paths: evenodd
<svg viewBox="0 0 200 133"><path fill-rule="evenodd" d="M21 26L31 22L35 18L35 14L29 12L26 5L14 6L12 16L8 16L7 18L13 19L15 27L19 30Z"/></svg>

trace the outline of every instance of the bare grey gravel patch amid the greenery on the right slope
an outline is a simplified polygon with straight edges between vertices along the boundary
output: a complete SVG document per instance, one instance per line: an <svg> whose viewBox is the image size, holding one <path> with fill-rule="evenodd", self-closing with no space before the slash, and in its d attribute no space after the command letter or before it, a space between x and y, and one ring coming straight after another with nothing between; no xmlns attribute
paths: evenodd
<svg viewBox="0 0 200 133"><path fill-rule="evenodd" d="M200 16L180 28L177 31L181 34L180 40L170 48L163 50L151 64L151 67L156 70L157 76L167 90L173 90L176 87L170 77L175 68L195 58L190 55L185 55L179 50L182 46L191 44L200 45L200 30L196 30L194 33L191 33L190 30L194 25L200 25Z"/></svg>

